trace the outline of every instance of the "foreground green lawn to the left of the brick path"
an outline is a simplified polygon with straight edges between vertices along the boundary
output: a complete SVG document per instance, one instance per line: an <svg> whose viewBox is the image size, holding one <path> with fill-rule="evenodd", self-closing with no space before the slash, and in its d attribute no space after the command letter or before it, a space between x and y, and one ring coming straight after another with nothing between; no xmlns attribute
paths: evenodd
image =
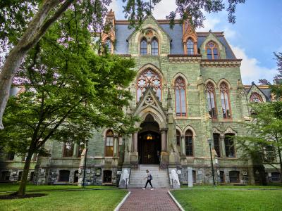
<svg viewBox="0 0 282 211"><path fill-rule="evenodd" d="M128 191L113 189L40 193L48 195L38 198L0 200L0 210L114 210Z"/></svg>

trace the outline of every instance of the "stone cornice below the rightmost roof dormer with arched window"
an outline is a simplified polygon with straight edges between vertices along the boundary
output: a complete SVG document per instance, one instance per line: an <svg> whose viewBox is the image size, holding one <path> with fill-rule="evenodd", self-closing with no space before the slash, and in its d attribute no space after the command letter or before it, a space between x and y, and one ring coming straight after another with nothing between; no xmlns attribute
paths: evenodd
<svg viewBox="0 0 282 211"><path fill-rule="evenodd" d="M242 59L202 59L200 65L202 68L240 68L241 61Z"/></svg>

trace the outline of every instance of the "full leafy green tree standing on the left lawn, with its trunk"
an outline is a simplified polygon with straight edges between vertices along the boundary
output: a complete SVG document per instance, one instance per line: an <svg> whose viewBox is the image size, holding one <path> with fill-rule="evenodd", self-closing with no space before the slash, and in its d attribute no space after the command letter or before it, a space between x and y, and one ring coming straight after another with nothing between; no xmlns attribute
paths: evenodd
<svg viewBox="0 0 282 211"><path fill-rule="evenodd" d="M134 120L123 108L131 98L125 88L135 76L135 63L106 51L98 56L87 27L78 24L80 15L66 11L17 74L25 91L9 99L0 139L5 148L27 154L18 196L25 194L32 155L47 154L46 141L83 141L101 127L133 132Z"/></svg>

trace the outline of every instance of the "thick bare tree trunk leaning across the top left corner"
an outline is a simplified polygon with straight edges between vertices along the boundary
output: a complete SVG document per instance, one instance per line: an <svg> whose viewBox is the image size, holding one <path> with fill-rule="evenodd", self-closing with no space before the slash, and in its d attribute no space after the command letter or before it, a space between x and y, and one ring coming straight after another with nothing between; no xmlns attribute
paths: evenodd
<svg viewBox="0 0 282 211"><path fill-rule="evenodd" d="M9 98L13 77L15 77L18 72L18 68L22 63L23 58L27 54L27 51L37 44L50 25L59 18L61 13L66 11L73 1L74 0L65 1L54 15L47 20L50 11L58 6L61 1L45 0L35 17L30 21L23 37L18 41L18 44L10 51L6 58L4 66L0 72L0 129L4 129L2 123L4 110Z"/></svg>

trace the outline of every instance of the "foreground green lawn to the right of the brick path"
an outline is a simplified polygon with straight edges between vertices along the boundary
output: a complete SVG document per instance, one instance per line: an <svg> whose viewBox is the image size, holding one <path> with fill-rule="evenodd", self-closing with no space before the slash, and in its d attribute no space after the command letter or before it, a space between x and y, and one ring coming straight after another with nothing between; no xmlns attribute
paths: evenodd
<svg viewBox="0 0 282 211"><path fill-rule="evenodd" d="M282 210L280 190L171 191L185 210Z"/></svg>

